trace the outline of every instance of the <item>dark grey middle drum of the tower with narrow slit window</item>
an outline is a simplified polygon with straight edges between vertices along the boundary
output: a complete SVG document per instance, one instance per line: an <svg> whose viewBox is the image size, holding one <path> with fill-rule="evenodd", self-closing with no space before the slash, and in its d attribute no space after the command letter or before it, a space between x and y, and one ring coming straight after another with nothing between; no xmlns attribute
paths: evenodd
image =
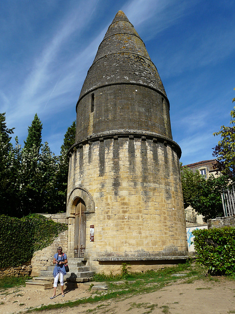
<svg viewBox="0 0 235 314"><path fill-rule="evenodd" d="M88 93L77 105L76 125L76 141L121 129L155 132L172 139L167 98L141 85L110 85Z"/></svg>

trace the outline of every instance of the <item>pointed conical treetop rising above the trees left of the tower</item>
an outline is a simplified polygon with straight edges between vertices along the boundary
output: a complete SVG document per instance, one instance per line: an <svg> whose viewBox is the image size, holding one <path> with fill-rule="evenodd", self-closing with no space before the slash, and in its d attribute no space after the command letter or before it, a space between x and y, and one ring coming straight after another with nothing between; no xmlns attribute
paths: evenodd
<svg viewBox="0 0 235 314"><path fill-rule="evenodd" d="M43 124L36 113L31 126L28 127L28 136L26 141L24 141L25 149L31 149L35 146L38 151L40 150L42 145L42 129Z"/></svg>

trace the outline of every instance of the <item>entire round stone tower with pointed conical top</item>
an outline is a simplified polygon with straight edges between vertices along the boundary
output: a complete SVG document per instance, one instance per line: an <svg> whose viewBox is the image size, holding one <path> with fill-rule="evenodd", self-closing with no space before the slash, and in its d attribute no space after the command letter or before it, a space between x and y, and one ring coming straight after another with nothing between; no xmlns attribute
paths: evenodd
<svg viewBox="0 0 235 314"><path fill-rule="evenodd" d="M122 11L99 45L76 113L69 256L104 272L123 262L144 270L186 259L181 149L172 140L169 101Z"/></svg>

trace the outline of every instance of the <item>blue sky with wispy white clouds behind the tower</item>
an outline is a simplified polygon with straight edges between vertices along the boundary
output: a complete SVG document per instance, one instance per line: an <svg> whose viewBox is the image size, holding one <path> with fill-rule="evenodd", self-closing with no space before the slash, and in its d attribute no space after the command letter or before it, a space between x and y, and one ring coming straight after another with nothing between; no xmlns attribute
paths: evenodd
<svg viewBox="0 0 235 314"><path fill-rule="evenodd" d="M122 10L170 102L183 164L211 159L235 97L234 0L2 0L0 112L21 144L35 113L60 153L98 45Z"/></svg>

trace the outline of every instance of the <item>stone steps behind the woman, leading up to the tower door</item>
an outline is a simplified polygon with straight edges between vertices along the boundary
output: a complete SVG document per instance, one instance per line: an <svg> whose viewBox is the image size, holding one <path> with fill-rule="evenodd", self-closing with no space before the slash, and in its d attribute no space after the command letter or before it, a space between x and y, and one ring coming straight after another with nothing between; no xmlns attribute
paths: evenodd
<svg viewBox="0 0 235 314"><path fill-rule="evenodd" d="M84 258L68 258L70 271L64 278L67 286L90 281L95 272L91 271L90 266L86 266L86 263L87 261ZM33 277L32 280L26 282L26 285L34 285L45 289L52 288L54 282L53 269L54 266L47 266L47 270L41 270L40 277Z"/></svg>

